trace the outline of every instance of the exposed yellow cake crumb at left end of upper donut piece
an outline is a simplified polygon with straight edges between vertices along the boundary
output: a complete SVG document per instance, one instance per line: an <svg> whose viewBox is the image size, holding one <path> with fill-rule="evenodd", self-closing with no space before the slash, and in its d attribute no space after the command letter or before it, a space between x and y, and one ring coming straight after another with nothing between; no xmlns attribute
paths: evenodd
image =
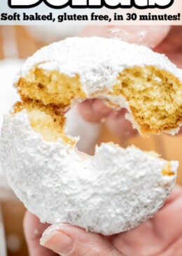
<svg viewBox="0 0 182 256"><path fill-rule="evenodd" d="M58 71L50 72L40 68L31 70L26 78L21 77L18 89L24 101L31 99L59 108L69 107L73 98L86 98L78 75L68 77Z"/></svg>

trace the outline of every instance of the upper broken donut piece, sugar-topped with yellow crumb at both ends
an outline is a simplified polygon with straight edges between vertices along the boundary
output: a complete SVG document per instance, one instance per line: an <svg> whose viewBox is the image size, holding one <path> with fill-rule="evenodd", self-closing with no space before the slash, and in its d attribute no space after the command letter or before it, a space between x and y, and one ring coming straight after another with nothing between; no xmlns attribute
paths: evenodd
<svg viewBox="0 0 182 256"><path fill-rule="evenodd" d="M28 58L15 80L22 101L66 110L85 98L127 108L140 134L175 134L182 123L182 72L145 46L69 38Z"/></svg>

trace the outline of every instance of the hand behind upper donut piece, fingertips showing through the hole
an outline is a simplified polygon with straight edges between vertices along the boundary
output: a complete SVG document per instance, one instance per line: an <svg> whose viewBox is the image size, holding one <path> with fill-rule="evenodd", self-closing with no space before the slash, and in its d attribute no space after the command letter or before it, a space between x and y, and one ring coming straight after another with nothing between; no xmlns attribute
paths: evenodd
<svg viewBox="0 0 182 256"><path fill-rule="evenodd" d="M130 43L146 45L154 51L165 53L173 63L182 68L182 26L90 26L81 36L118 37ZM102 100L83 101L78 105L80 115L88 122L104 120L111 132L123 139L137 134L125 119L125 109L119 111L107 107Z"/></svg>

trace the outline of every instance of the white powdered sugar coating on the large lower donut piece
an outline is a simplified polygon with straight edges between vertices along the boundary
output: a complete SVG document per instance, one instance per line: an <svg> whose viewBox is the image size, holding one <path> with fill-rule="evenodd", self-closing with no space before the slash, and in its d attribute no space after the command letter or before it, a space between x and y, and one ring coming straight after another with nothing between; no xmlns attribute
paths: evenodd
<svg viewBox="0 0 182 256"><path fill-rule="evenodd" d="M31 129L26 110L5 115L0 160L8 182L41 222L67 222L111 235L153 217L169 195L167 161L131 146L102 143L90 157L76 146L43 141ZM3 149L3 150L2 150Z"/></svg>

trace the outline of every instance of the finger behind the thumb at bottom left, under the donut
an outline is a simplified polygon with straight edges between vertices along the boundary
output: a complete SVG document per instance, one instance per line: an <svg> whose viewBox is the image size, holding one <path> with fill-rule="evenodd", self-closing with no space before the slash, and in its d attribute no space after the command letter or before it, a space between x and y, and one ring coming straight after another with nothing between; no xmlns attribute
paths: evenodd
<svg viewBox="0 0 182 256"><path fill-rule="evenodd" d="M29 256L55 256L55 252L44 248L39 243L43 231L49 226L48 224L41 224L36 216L26 212L23 225Z"/></svg>

